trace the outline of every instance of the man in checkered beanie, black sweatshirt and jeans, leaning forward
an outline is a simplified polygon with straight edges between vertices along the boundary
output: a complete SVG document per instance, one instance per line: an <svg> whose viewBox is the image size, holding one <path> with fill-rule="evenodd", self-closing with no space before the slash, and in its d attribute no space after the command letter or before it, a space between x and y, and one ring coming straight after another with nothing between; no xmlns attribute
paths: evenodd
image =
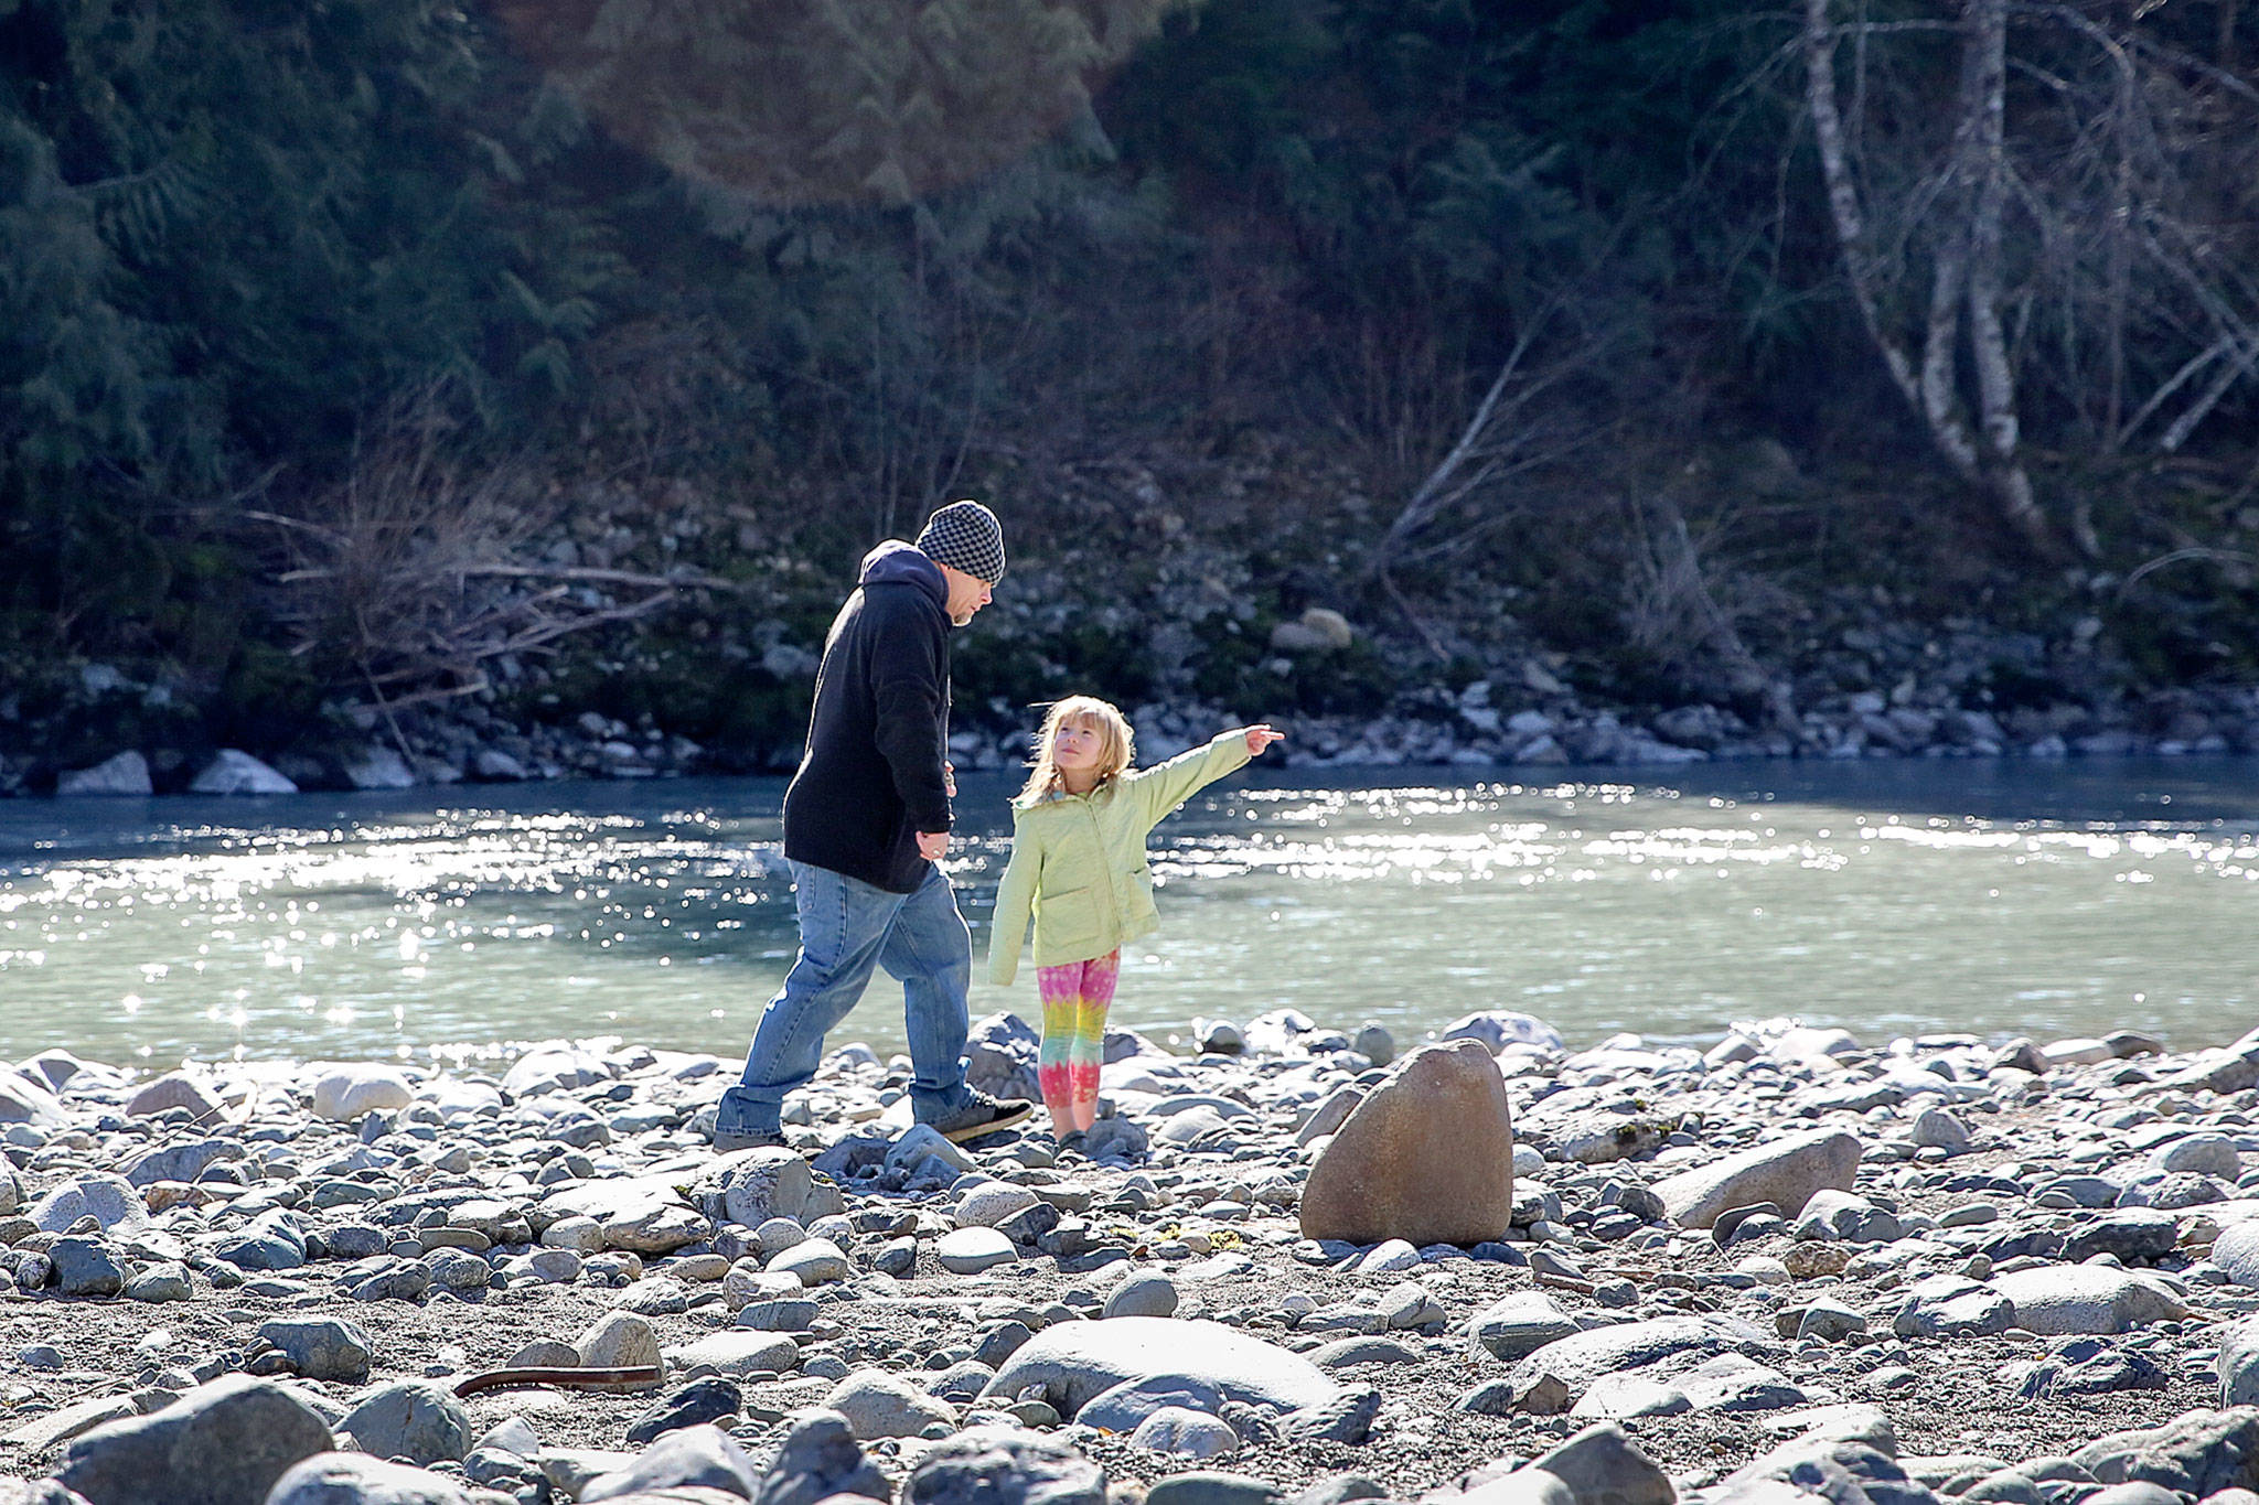
<svg viewBox="0 0 2259 1505"><path fill-rule="evenodd" d="M949 851L949 627L1003 578L1003 528L978 501L935 512L917 544L863 555L831 621L800 772L784 792L800 957L768 1000L745 1074L721 1097L714 1148L784 1144L784 1094L806 1083L825 1033L874 966L901 979L910 1112L951 1139L1010 1128L1032 1103L965 1083L974 943L937 862Z"/></svg>

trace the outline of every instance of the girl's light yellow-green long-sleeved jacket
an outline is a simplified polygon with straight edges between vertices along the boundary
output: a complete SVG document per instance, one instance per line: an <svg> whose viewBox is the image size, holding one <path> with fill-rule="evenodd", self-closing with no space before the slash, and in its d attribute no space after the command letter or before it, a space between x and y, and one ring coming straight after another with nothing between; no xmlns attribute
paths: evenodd
<svg viewBox="0 0 2259 1505"><path fill-rule="evenodd" d="M1019 972L1030 914L1037 966L1091 961L1159 930L1145 835L1195 790L1242 767L1247 733L1227 731L1168 763L1118 774L1089 794L1012 806L1012 862L996 887L989 979L1001 986Z"/></svg>

